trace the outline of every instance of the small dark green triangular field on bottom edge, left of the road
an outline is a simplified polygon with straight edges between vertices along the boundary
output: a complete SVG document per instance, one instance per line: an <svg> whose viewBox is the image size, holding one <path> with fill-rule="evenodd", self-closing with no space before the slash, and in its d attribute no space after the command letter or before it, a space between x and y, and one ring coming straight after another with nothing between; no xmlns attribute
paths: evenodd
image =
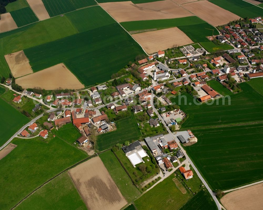
<svg viewBox="0 0 263 210"><path fill-rule="evenodd" d="M183 207L180 208L180 210L189 210L189 209L216 210L218 208L215 202L213 201L213 199L211 198L209 192L207 190L202 190L199 193L197 193L193 198L191 198L186 204L184 204Z"/></svg>

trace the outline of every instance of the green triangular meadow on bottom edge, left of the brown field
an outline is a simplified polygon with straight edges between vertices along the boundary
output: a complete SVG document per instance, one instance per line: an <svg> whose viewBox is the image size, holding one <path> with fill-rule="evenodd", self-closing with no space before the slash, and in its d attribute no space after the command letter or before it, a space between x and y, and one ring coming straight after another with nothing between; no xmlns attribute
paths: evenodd
<svg viewBox="0 0 263 210"><path fill-rule="evenodd" d="M68 172L38 189L16 209L87 209Z"/></svg>

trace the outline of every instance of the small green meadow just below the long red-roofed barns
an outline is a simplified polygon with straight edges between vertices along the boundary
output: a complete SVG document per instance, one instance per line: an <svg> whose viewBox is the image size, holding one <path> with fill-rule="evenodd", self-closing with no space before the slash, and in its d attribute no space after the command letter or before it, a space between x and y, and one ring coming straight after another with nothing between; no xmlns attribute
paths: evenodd
<svg viewBox="0 0 263 210"><path fill-rule="evenodd" d="M73 144L80 136L82 136L76 126L72 123L63 125L58 130L54 128L51 132L69 144Z"/></svg>

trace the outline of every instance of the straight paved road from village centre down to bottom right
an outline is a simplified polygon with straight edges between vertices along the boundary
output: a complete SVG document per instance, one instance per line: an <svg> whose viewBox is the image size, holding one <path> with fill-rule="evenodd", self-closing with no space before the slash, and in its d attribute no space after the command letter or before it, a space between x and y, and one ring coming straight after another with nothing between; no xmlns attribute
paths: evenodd
<svg viewBox="0 0 263 210"><path fill-rule="evenodd" d="M155 113L158 115L159 119L162 121L162 123L164 124L165 128L167 129L168 133L173 137L173 139L176 141L176 143L178 145L180 145L180 142L177 138L175 138L175 135L170 131L169 127L166 126L163 118L161 117L161 115L159 114L159 112L156 110L156 108L154 107L153 104L153 98L154 98L154 94L151 94L151 106L153 107L153 110L155 111ZM213 193L213 191L210 189L210 187L208 186L208 184L206 183L206 181L204 180L204 178L202 177L202 175L199 173L198 169L195 167L194 163L191 161L191 159L189 158L189 156L187 155L186 151L184 150L183 147L180 147L182 152L184 153L186 160L188 160L191 164L191 166L194 168L196 174L199 176L200 180L204 183L205 187L208 189L208 192L211 194L211 196L213 197L217 207L219 210L221 210L221 205L218 201L218 199L215 197L215 194Z"/></svg>

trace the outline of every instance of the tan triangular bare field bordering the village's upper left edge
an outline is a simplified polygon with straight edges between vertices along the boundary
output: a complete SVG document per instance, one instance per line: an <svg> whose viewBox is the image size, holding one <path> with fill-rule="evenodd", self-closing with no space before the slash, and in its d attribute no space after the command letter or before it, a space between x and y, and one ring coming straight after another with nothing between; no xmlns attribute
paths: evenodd
<svg viewBox="0 0 263 210"><path fill-rule="evenodd" d="M54 90L57 88L84 88L84 85L80 83L76 76L72 74L63 63L20 77L16 79L16 83L21 85L23 88L40 87L46 90Z"/></svg>

